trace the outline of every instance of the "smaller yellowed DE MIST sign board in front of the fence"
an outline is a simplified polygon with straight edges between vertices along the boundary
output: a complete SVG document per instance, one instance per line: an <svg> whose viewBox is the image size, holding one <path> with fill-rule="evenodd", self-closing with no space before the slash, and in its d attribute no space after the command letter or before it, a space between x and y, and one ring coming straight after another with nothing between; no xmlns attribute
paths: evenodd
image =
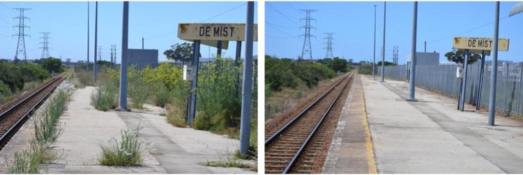
<svg viewBox="0 0 523 175"><path fill-rule="evenodd" d="M453 47L459 50L492 50L492 45L492 38L455 37L453 42ZM498 50L508 51L508 39L499 38Z"/></svg>

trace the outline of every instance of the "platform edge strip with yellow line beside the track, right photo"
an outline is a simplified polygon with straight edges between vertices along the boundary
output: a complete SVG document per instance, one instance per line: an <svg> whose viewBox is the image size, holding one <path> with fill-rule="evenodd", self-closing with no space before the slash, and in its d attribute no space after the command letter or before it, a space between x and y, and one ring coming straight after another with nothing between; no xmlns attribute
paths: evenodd
<svg viewBox="0 0 523 175"><path fill-rule="evenodd" d="M322 173L375 173L361 80L356 75L345 101Z"/></svg>

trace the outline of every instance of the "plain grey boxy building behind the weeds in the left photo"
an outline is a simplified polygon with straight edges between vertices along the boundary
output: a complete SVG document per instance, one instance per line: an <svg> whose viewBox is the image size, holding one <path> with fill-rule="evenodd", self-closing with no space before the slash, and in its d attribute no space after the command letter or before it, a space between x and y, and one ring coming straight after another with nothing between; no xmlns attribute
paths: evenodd
<svg viewBox="0 0 523 175"><path fill-rule="evenodd" d="M145 68L151 66L156 68L158 66L158 50L128 50L129 65L136 65L138 68Z"/></svg>

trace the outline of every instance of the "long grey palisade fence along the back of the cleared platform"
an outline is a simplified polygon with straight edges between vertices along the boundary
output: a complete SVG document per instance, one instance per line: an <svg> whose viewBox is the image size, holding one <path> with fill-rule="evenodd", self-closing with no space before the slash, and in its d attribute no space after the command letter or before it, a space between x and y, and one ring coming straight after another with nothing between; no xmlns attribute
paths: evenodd
<svg viewBox="0 0 523 175"><path fill-rule="evenodd" d="M486 61L487 62L487 61ZM483 85L478 96L480 83L480 64L469 65L467 70L467 88L465 102L476 105L480 98L480 106L487 107L490 96L491 66L485 62L483 69ZM498 63L496 110L506 115L523 114L523 62ZM416 86L430 91L443 93L446 96L458 98L462 79L456 77L458 65L416 66ZM378 76L381 68L378 68ZM407 81L407 66L386 66L385 77ZM457 105L456 105L457 107Z"/></svg>

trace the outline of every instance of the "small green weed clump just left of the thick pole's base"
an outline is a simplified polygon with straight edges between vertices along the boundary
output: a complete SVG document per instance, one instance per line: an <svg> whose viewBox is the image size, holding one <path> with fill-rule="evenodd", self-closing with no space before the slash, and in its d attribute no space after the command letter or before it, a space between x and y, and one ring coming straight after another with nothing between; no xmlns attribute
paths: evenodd
<svg viewBox="0 0 523 175"><path fill-rule="evenodd" d="M91 105L99 111L107 111L116 108L117 90L115 86L100 85L91 94Z"/></svg>

